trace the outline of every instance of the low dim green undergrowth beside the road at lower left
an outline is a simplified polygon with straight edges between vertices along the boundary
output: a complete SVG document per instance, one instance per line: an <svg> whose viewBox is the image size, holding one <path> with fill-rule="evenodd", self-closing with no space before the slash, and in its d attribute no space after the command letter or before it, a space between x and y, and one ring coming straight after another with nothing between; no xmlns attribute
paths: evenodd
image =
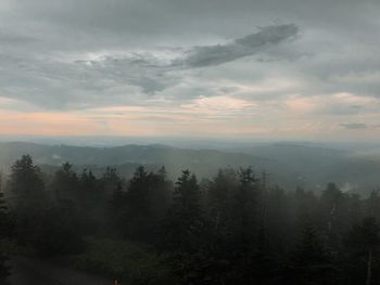
<svg viewBox="0 0 380 285"><path fill-rule="evenodd" d="M96 237L87 237L86 251L69 258L78 269L114 276L126 284L175 284L166 260L147 245Z"/></svg>

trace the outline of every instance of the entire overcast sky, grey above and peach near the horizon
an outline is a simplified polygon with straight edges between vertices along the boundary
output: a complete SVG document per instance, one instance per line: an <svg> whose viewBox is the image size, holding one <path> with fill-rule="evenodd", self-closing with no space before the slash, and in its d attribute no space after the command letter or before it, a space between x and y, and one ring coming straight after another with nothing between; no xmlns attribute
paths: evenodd
<svg viewBox="0 0 380 285"><path fill-rule="evenodd" d="M0 135L380 139L377 0L1 0Z"/></svg>

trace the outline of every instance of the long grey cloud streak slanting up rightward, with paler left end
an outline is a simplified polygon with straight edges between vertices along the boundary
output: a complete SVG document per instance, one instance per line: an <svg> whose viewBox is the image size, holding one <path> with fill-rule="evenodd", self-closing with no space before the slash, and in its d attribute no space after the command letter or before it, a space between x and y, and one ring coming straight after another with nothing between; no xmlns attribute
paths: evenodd
<svg viewBox="0 0 380 285"><path fill-rule="evenodd" d="M147 52L105 54L97 60L77 60L88 72L99 73L119 85L140 87L147 94L154 94L177 85L187 76L187 69L212 67L241 57L265 52L266 49L290 40L297 35L294 24L262 27L255 34L227 44L193 47Z"/></svg>

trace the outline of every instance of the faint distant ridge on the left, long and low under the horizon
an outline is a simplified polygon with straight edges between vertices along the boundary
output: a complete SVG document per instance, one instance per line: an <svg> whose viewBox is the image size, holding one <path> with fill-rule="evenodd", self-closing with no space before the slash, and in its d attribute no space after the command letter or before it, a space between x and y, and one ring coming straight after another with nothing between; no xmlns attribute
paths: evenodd
<svg viewBox="0 0 380 285"><path fill-rule="evenodd" d="M245 154L225 153L214 150L189 150L161 144L129 144L113 147L43 145L25 142L0 143L0 161L12 164L23 154L29 154L37 164L60 165L64 161L79 165L121 165L125 163L164 164L170 159L183 163L201 164L225 159L235 163L252 163ZM205 156L206 155L206 156Z"/></svg>

